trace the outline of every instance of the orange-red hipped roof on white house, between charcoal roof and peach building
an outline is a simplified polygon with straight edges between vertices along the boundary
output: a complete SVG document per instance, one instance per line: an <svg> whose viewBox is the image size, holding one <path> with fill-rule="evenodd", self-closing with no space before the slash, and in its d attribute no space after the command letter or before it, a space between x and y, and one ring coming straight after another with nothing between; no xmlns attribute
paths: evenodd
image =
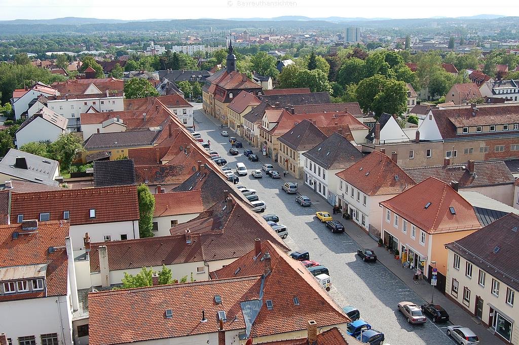
<svg viewBox="0 0 519 345"><path fill-rule="evenodd" d="M415 185L396 162L380 151L373 151L336 175L367 195L399 194Z"/></svg>

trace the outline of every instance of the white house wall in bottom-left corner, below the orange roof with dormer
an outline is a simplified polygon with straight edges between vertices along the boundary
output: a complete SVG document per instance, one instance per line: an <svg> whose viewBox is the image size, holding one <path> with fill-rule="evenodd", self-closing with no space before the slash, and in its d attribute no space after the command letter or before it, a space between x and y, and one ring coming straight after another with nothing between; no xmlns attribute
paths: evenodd
<svg viewBox="0 0 519 345"><path fill-rule="evenodd" d="M2 333L18 343L18 337L34 336L42 345L42 334L56 333L58 343L72 345L72 308L69 296L31 298L0 303Z"/></svg>

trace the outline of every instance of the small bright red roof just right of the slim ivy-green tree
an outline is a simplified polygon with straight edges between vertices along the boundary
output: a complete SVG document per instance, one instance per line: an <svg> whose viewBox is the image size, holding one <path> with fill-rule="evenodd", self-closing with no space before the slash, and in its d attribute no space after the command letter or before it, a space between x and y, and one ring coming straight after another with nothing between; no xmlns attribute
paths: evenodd
<svg viewBox="0 0 519 345"><path fill-rule="evenodd" d="M155 195L154 217L200 213L205 209L200 190L177 191Z"/></svg>

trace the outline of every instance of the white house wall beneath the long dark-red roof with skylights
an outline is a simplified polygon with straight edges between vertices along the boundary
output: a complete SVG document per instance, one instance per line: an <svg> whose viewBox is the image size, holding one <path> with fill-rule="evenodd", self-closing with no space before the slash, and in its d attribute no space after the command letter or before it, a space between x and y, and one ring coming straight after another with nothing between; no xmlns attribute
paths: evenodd
<svg viewBox="0 0 519 345"><path fill-rule="evenodd" d="M110 236L112 241L119 241L121 234L126 234L128 240L139 238L139 221L71 225L70 237L75 251L85 249L85 233L88 232L91 243L105 242L104 236Z"/></svg>

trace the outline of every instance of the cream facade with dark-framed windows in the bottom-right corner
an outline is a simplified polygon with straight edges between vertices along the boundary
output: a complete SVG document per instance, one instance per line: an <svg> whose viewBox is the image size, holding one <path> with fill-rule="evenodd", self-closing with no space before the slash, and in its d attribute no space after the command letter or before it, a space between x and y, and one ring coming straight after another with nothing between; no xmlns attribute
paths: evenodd
<svg viewBox="0 0 519 345"><path fill-rule="evenodd" d="M467 260L463 257L459 258L459 269L454 267L454 257L455 253L452 251L448 251L448 260L447 260L447 278L445 285L445 295L454 300L463 310L468 312L470 315L474 316L476 314L476 296L480 299L483 299L483 311L481 321L485 327L490 326L490 329L494 329L490 324L490 309L494 309L494 317L497 313L502 313L508 316L508 319L515 321L512 324L512 335L510 343L517 345L519 344L519 327L517 325L517 320L519 320L519 308L517 307L517 300L514 301L514 305L511 306L507 303L507 288L510 288L502 281L491 275L491 272L486 270L481 270L479 266L471 262L472 266L472 278L469 278L465 275L465 269L467 265ZM485 282L484 285L479 284L479 274L480 270L485 273ZM499 282L499 294L498 296L492 293L492 281L496 280ZM453 282L458 282L458 292L453 291ZM465 288L468 288L470 291L470 298L468 300L463 299L463 294ZM512 289L513 290L513 289ZM514 295L517 295L518 292L514 291ZM500 335L496 335L496 337L503 339ZM498 343L496 339L496 343Z"/></svg>

